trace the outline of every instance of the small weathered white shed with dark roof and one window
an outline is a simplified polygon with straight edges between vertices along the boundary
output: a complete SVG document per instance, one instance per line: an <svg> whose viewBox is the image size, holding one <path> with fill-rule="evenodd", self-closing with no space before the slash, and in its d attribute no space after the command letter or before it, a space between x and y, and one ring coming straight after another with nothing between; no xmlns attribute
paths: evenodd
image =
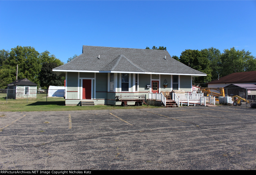
<svg viewBox="0 0 256 175"><path fill-rule="evenodd" d="M18 79L7 85L7 98L36 98L37 84L27 78Z"/></svg>

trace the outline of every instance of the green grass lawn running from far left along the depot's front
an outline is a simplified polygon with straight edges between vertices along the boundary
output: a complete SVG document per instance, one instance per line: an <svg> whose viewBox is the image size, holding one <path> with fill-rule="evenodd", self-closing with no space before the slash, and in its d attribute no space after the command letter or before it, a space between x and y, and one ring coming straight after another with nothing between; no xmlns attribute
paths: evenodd
<svg viewBox="0 0 256 175"><path fill-rule="evenodd" d="M140 109L158 108L157 106L127 106L96 105L96 106L65 106L64 98L47 97L37 94L36 99L7 99L6 94L0 94L0 111L73 111L73 110L103 110L103 109Z"/></svg>

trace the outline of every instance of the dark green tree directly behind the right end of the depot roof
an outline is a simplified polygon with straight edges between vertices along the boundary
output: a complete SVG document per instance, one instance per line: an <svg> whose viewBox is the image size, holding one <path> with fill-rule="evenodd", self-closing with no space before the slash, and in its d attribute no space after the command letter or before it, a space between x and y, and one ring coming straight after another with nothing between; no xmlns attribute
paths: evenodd
<svg viewBox="0 0 256 175"><path fill-rule="evenodd" d="M207 76L195 77L195 84L206 87L208 81L211 80L211 68L207 55L199 50L186 49L180 55L180 62L195 70L204 72Z"/></svg>

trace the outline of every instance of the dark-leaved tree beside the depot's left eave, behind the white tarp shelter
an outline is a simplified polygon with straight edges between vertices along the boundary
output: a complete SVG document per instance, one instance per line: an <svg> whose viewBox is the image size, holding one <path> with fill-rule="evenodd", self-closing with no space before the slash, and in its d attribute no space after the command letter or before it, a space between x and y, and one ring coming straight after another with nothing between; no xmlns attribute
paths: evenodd
<svg viewBox="0 0 256 175"><path fill-rule="evenodd" d="M43 89L48 89L49 86L64 86L65 77L57 76L52 69L60 66L55 62L45 62L42 64L39 73L40 85Z"/></svg>

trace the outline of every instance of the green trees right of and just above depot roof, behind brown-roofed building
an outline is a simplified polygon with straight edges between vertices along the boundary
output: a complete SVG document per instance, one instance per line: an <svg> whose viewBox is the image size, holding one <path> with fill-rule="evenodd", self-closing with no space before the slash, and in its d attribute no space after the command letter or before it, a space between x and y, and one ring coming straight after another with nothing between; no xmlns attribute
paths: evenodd
<svg viewBox="0 0 256 175"><path fill-rule="evenodd" d="M153 46L152 49L157 47ZM160 46L158 50L166 50L166 47ZM256 59L251 52L244 49L236 50L234 47L224 49L222 53L214 47L202 50L186 49L180 57L173 55L172 58L206 73L207 76L193 77L193 85L202 87L207 87L207 82L234 72L256 71Z"/></svg>

